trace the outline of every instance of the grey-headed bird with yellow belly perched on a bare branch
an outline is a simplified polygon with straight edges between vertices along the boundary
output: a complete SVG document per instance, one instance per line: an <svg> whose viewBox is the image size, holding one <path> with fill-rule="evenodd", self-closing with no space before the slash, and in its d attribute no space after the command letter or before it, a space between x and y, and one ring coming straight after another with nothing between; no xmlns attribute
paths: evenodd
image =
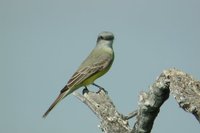
<svg viewBox="0 0 200 133"><path fill-rule="evenodd" d="M113 64L113 41L114 35L112 32L103 31L99 33L96 46L71 76L67 84L60 91L58 97L44 113L43 118L46 118L49 112L73 91L81 87L87 88L88 85L94 85L99 89L102 88L95 84L94 81L103 76Z"/></svg>

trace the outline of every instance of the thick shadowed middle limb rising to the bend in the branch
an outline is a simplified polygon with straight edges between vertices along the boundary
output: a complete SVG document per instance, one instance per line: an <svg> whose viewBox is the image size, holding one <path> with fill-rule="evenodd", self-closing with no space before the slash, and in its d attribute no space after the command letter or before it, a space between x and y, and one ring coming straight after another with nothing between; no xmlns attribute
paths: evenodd
<svg viewBox="0 0 200 133"><path fill-rule="evenodd" d="M164 74L161 74L150 87L150 91L141 92L139 96L137 121L132 133L150 133L160 107L168 97L169 79Z"/></svg>

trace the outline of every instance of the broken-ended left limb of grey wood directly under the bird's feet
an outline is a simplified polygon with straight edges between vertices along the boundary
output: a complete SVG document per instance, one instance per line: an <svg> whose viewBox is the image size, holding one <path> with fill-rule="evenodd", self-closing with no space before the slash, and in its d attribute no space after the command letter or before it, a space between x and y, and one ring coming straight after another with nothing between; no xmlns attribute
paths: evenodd
<svg viewBox="0 0 200 133"><path fill-rule="evenodd" d="M100 128L105 133L130 133L128 121L119 114L104 90L98 93L83 90L83 95L73 93L85 103L101 120Z"/></svg>

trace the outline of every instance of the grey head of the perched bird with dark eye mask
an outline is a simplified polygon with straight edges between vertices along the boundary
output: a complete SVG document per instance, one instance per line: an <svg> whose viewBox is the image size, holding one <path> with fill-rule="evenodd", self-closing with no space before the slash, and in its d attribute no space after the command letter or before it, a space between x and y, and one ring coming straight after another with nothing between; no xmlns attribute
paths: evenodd
<svg viewBox="0 0 200 133"><path fill-rule="evenodd" d="M108 31L101 32L98 35L97 42L102 41L102 40L104 40L104 41L111 41L112 42L114 40L113 33L108 32Z"/></svg>

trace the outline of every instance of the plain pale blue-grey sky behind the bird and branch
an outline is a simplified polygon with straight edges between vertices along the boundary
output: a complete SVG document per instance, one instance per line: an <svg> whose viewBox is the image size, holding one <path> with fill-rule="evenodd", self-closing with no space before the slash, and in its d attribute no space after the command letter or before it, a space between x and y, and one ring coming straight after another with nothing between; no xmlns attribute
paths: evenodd
<svg viewBox="0 0 200 133"><path fill-rule="evenodd" d="M73 95L42 115L102 31L115 34L116 58L96 83L123 114L137 108L139 93L164 69L200 79L199 0L0 0L0 132L101 133ZM170 96L152 133L199 131Z"/></svg>

